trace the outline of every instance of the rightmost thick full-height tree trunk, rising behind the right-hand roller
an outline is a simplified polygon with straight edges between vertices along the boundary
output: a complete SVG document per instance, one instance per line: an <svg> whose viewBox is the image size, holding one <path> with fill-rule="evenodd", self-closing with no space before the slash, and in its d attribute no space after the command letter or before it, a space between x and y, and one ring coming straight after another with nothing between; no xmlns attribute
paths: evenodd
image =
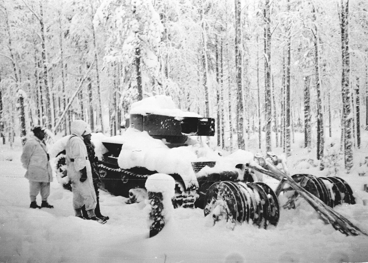
<svg viewBox="0 0 368 263"><path fill-rule="evenodd" d="M344 105L344 153L345 153L345 169L350 172L353 167L353 143L351 141L351 108L350 108L350 55L349 55L349 34L348 34L348 11L349 1L346 1L344 7L344 0L341 0L341 42L342 42L342 94Z"/></svg>

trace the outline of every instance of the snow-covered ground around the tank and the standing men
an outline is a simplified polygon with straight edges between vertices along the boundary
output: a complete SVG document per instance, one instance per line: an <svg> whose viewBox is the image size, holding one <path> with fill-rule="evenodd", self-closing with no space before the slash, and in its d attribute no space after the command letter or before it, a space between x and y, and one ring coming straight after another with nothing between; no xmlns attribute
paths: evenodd
<svg viewBox="0 0 368 263"><path fill-rule="evenodd" d="M315 156L315 151L308 153L299 146L301 139L293 144L290 172L326 175L318 167L298 163ZM355 159L368 155L366 149ZM282 209L277 227L267 230L243 224L231 231L222 224L212 226L201 209L178 208L153 238L148 238L144 203L125 204L126 198L101 190L101 211L110 217L104 225L74 217L72 193L57 180L51 183L48 200L55 208L30 209L20 155L19 138L13 149L0 146L0 262L368 262L367 237L335 231L306 203L295 210ZM368 176L358 176L358 168L354 169L349 175L341 171L337 175L351 185L357 204L335 210L367 232L368 206L362 200L368 200L363 191Z"/></svg>

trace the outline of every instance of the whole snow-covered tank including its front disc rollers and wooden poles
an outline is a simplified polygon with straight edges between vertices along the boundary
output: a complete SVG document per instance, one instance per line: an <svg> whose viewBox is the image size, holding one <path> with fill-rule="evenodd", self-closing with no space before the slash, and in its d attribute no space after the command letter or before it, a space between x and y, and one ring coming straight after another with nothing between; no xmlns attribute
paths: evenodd
<svg viewBox="0 0 368 263"><path fill-rule="evenodd" d="M290 176L284 159L272 152L266 158L244 150L222 156L208 146L209 137L215 134L215 120L177 109L171 97L154 96L133 103L127 124L121 135L92 134L92 142L99 159L99 187L129 197L128 203L148 198L145 183L149 176L168 174L175 180L174 207L203 208L213 224L226 220L232 227L237 222L252 222L260 228L276 226L278 195L283 193L288 198L284 208L294 208L303 198L337 230L346 235L362 233L332 210L339 204L355 203L344 180ZM56 171L65 187L63 150L67 140L68 136L59 140L50 154L56 156ZM262 176L280 183L272 189L262 182Z"/></svg>

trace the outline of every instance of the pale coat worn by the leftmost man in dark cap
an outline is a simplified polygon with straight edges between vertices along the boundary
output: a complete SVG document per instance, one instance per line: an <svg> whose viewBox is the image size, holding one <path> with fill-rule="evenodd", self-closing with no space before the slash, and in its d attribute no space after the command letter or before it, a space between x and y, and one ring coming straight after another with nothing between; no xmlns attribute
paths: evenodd
<svg viewBox="0 0 368 263"><path fill-rule="evenodd" d="M24 177L29 181L46 183L52 181L52 169L47 160L46 144L35 135L30 135L25 142L21 162L27 170Z"/></svg>

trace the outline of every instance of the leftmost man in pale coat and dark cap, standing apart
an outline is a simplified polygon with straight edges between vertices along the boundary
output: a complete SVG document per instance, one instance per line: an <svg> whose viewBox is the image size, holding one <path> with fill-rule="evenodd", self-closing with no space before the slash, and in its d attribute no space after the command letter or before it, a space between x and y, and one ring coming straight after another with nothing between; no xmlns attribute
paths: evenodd
<svg viewBox="0 0 368 263"><path fill-rule="evenodd" d="M22 165L27 172L25 176L29 180L29 196L31 198L30 208L53 208L47 203L50 195L50 182L52 181L52 170L49 163L45 139L45 129L39 126L32 129L31 134L23 146L21 155ZM36 196L41 192L42 204L36 203Z"/></svg>

